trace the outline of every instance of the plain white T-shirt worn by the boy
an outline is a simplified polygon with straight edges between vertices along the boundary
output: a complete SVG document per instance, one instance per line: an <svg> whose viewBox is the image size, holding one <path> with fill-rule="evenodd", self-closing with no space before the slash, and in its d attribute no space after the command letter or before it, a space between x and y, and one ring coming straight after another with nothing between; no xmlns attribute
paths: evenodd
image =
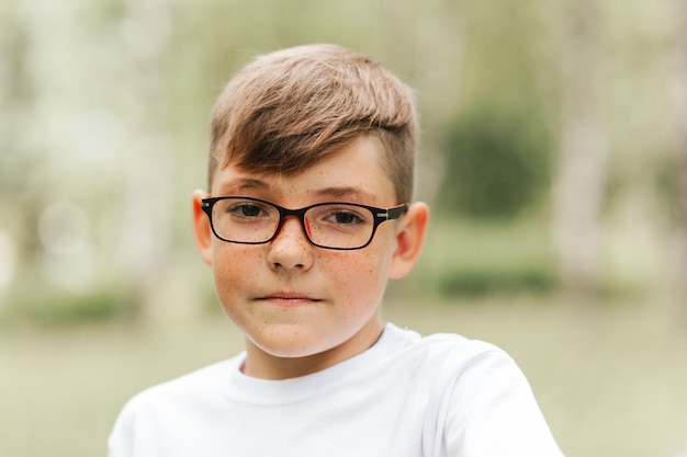
<svg viewBox="0 0 687 457"><path fill-rule="evenodd" d="M286 380L243 375L244 357L134 397L110 457L562 456L525 376L487 343L386 324L364 353Z"/></svg>

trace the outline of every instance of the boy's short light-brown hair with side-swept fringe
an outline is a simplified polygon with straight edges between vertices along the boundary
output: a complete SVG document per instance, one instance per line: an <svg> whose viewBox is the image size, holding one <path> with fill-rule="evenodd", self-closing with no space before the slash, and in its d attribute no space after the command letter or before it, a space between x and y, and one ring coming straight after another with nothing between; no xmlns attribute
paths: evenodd
<svg viewBox="0 0 687 457"><path fill-rule="evenodd" d="M418 144L410 88L370 57L338 45L259 56L214 105L209 184L228 164L296 174L361 136L379 140L396 198L409 202Z"/></svg>

